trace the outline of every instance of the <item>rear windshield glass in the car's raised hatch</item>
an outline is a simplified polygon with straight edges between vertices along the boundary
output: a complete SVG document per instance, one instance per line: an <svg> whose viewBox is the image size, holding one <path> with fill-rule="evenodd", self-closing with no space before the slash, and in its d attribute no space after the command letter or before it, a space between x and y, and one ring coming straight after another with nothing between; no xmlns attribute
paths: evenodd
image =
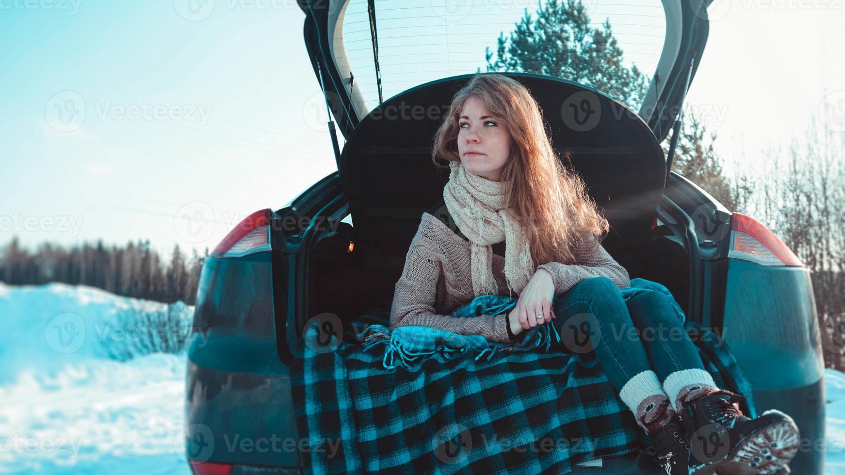
<svg viewBox="0 0 845 475"><path fill-rule="evenodd" d="M382 97L458 74L569 79L639 111L657 70L660 0L375 0ZM343 44L366 111L379 105L367 0L349 0Z"/></svg>

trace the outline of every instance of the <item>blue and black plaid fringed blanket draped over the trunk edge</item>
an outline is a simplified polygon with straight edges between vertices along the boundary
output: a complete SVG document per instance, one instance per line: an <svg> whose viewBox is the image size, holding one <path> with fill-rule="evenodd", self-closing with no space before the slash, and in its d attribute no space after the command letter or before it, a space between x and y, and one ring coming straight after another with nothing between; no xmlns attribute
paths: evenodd
<svg viewBox="0 0 845 475"><path fill-rule="evenodd" d="M641 289L669 292L633 278L620 293ZM498 315L483 310L515 301L483 295L452 315ZM756 417L727 343L676 310L714 381L746 396L740 408ZM450 332L414 340L391 335L402 327L390 332L389 321L385 300L355 321L304 329L291 382L308 472L566 473L651 445L595 354L567 352L553 326L501 345Z"/></svg>

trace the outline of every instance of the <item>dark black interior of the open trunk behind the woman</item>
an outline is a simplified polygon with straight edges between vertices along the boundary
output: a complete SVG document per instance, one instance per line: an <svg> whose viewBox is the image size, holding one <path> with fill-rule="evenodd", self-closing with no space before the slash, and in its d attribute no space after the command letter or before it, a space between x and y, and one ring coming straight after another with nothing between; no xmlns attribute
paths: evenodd
<svg viewBox="0 0 845 475"><path fill-rule="evenodd" d="M666 160L646 123L619 101L558 78L508 74L540 104L553 146L581 174L611 230L602 241L630 277L663 283L685 308L688 259L683 240L652 229ZM446 78L384 101L352 133L341 154L341 188L352 227L312 240L308 309L346 321L392 299L423 212L443 196L448 170L431 161L434 132L455 92L472 75ZM573 94L577 94L573 96ZM575 104L590 127L573 130ZM582 130L581 130L582 129ZM348 252L349 241L354 251Z"/></svg>

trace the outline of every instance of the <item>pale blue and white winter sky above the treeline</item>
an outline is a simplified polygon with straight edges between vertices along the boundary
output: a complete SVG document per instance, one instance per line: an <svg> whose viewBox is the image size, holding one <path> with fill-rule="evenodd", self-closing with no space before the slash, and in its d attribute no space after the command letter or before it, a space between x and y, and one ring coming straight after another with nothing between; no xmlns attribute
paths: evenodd
<svg viewBox="0 0 845 475"><path fill-rule="evenodd" d="M30 249L44 240L102 238L120 245L149 239L164 256L176 244L201 252L248 213L281 208L335 170L296 2L205 0L188 8L197 1L0 0L0 246L18 235ZM357 3L347 14L364 11L366 2ZM522 8L537 5L473 3L480 7L457 11L469 20L497 13L511 25ZM620 46L651 75L648 47L638 50L631 35L637 28L662 35L662 25L648 15L630 21L633 30L624 23L634 18L626 13L660 12L659 3L635 3L641 6L617 0L615 9L591 12L596 22L607 13L619 24ZM420 4L443 11L443 0ZM384 24L389 6L376 2ZM743 153L744 163L760 165L766 148L788 144L813 116L824 119L826 104L840 109L824 123L845 133L843 24L845 0L711 5L710 36L687 103L718 133L728 168ZM368 35L367 28L362 22L347 30ZM385 30L383 49L388 36ZM366 41L358 46L354 54L368 53ZM449 70L472 73L475 66ZM390 86L390 79L385 70L384 99L414 85ZM63 110L68 105L84 110ZM191 222L198 213L200 232Z"/></svg>

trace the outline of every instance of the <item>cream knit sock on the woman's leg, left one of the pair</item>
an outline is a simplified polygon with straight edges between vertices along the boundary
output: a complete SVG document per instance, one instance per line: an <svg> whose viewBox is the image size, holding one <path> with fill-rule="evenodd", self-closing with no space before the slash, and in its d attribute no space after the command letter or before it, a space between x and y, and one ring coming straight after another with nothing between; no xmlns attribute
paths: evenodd
<svg viewBox="0 0 845 475"><path fill-rule="evenodd" d="M628 380L619 391L619 397L648 435L665 427L675 415L669 397L652 370L642 371Z"/></svg>

